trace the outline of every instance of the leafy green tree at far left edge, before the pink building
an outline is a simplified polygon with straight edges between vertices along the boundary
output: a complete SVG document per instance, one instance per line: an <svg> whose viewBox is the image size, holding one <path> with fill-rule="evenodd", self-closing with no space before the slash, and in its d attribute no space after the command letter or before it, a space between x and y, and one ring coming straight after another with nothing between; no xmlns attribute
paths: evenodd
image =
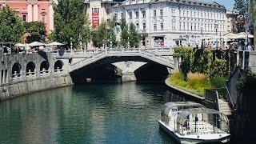
<svg viewBox="0 0 256 144"><path fill-rule="evenodd" d="M22 18L9 6L0 9L0 42L21 42L24 34Z"/></svg>

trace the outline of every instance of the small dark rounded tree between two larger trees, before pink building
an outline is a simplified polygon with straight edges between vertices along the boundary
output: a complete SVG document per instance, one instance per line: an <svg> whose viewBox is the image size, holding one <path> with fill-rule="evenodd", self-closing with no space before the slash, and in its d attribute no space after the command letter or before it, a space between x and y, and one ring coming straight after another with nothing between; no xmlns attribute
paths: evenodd
<svg viewBox="0 0 256 144"><path fill-rule="evenodd" d="M24 22L26 33L28 34L26 42L45 42L46 27L43 22Z"/></svg>

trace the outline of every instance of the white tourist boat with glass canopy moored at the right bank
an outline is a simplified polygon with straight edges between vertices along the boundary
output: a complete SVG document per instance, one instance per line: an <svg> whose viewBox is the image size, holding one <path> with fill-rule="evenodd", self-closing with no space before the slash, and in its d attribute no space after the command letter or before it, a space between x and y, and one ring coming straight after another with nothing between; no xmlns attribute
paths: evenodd
<svg viewBox="0 0 256 144"><path fill-rule="evenodd" d="M230 141L226 115L196 102L164 104L158 123L162 130L180 143Z"/></svg>

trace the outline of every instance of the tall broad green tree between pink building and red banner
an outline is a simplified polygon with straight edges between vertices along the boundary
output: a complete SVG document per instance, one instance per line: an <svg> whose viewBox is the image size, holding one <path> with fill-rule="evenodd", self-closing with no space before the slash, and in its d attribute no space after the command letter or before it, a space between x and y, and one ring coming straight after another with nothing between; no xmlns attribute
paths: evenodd
<svg viewBox="0 0 256 144"><path fill-rule="evenodd" d="M58 0L54 3L54 34L55 41L78 46L80 38L89 42L91 38L90 22L85 13L83 0ZM72 38L72 39L71 39Z"/></svg>

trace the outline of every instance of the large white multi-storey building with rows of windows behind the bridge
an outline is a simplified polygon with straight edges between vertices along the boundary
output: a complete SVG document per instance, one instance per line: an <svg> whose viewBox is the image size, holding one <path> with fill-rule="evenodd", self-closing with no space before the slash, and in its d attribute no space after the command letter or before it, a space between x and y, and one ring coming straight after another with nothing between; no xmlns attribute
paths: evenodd
<svg viewBox="0 0 256 144"><path fill-rule="evenodd" d="M227 33L226 8L202 0L126 0L111 7L118 21L134 22L146 47L174 46Z"/></svg>

